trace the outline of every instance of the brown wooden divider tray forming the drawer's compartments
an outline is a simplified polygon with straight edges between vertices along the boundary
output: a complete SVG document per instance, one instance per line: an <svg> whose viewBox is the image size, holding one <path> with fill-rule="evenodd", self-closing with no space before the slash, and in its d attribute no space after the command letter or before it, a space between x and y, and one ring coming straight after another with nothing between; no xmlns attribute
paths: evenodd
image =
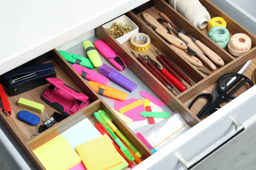
<svg viewBox="0 0 256 170"><path fill-rule="evenodd" d="M154 1L154 5L152 7L149 7L146 10L140 10L140 12L136 14L132 11L127 12L126 14L129 18L131 18L131 20L133 20L133 22L135 22L135 24L139 26L140 33L146 33L147 35L150 35L150 49L154 50L154 48L157 48L160 50L165 56L167 56L167 58L173 61L173 63L175 63L175 65L177 65L177 67L179 67L179 69L181 69L181 71L192 80L192 82L194 82L194 86L186 84L188 90L180 94L173 94L167 90L167 88L165 88L165 86L163 86L157 78L155 78L146 68L144 68L142 64L139 63L139 61L137 61L137 59L130 52L131 48L129 46L129 41L123 44L119 44L116 39L114 39L103 27L100 26L96 28L96 37L106 42L111 48L113 48L117 54L119 54L119 56L121 56L121 58L125 61L127 67L133 71L133 73L139 77L140 80L142 80L142 82L148 86L150 90L152 90L152 92L158 95L161 101L163 101L169 107L169 109L179 112L190 126L194 126L201 121L196 117L196 114L201 109L204 101L200 101L197 105L195 105L195 107L193 107L194 109L188 109L189 103L192 99L194 99L194 97L196 97L196 95L202 92L211 93L211 90L216 86L216 82L221 75L232 72L234 69L236 69L236 67L242 63L245 63L249 59L253 59L253 61L249 68L245 71L244 75L251 78L253 69L256 67L256 59L254 59L256 54L256 37L247 31L244 27L242 27L242 25L238 24L232 18L224 14L224 12L215 7L215 5L213 5L211 2L202 0L201 3L209 11L211 17L221 16L224 18L224 20L226 20L228 23L227 29L230 31L231 35L234 33L245 33L249 35L252 41L251 50L238 58L234 58L227 52L226 49L220 48L217 44L215 44L215 42L211 41L211 39L207 37L207 31L205 29L200 30L194 27L194 25L190 24L183 16L181 16L181 14L175 11L163 0ZM164 12L167 16L175 20L177 24L184 27L188 34L191 34L196 39L199 39L204 44L209 46L209 48L219 54L219 56L223 58L225 65L223 67L217 67L217 69L214 71L211 71L206 66L203 66L203 69L211 73L209 76L204 75L188 61L186 61L186 59L180 56L180 54L175 52L175 50L173 50L173 48L169 46L169 44L165 42L151 27L148 27L148 25L142 22L142 12L148 12L156 18L160 18L158 15L159 12ZM139 54L138 52L135 53ZM151 58L156 59L155 54L153 54L151 50L141 52L140 54L148 54ZM70 64L64 60L56 50L51 51L51 56L52 59L47 62L54 63L57 77L64 80L65 84L68 84L68 86L71 86L75 90L88 95L89 99L91 99L91 104L89 104L84 109L79 110L79 112L76 112L72 116L69 116L62 122L54 124L53 127L43 131L42 133L39 133L36 136L33 136L32 139L30 139L32 134L37 134L37 130L34 126L21 124L16 116L14 116L21 110L16 103L20 97L41 103L39 97L47 88L47 86L49 86L49 84L35 88L34 90L22 93L20 95L9 97L13 115L5 116L3 113L1 113L1 122L3 122L5 127L9 129L14 139L16 139L30 160L32 160L33 165L35 165L37 169L44 169L41 162L32 152L34 148L37 148L41 144L49 141L50 139L53 139L53 137L56 137L56 135L62 133L69 127L74 126L74 124L77 124L77 122L83 120L84 118L89 118L93 124L96 124L97 121L93 116L93 113L100 109L105 110L110 115L117 128L119 128L121 132L125 134L127 139L129 139L129 141L131 141L131 143L133 143L134 146L142 154L142 158L148 158L152 152L150 152L150 150L148 150L148 148L142 144L142 142L140 142L133 131L131 131L116 116L116 114L105 103L100 95L91 89L87 82L74 71ZM45 105L45 107L45 112L47 112L48 116L51 117L51 112L53 112L54 109L48 105Z"/></svg>

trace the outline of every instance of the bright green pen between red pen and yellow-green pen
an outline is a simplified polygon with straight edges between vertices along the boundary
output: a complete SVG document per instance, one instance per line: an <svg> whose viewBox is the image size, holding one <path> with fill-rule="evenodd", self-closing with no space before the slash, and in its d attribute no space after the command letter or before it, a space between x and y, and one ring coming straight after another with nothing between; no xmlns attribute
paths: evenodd
<svg viewBox="0 0 256 170"><path fill-rule="evenodd" d="M110 127L108 127L108 125L104 122L104 120L100 117L100 115L98 114L98 112L95 112L95 118L98 120L98 122L100 122L100 124L102 124L102 126L108 131L108 133L110 133L110 136L114 139L114 141L116 142L116 144L119 146L121 152L123 152L123 154L126 156L126 158L130 161L134 161L135 158L131 155L131 153L129 152L129 150L127 148L125 148L125 146L123 145L123 143L121 143L120 139L118 139L116 137L116 135L111 131Z"/></svg>

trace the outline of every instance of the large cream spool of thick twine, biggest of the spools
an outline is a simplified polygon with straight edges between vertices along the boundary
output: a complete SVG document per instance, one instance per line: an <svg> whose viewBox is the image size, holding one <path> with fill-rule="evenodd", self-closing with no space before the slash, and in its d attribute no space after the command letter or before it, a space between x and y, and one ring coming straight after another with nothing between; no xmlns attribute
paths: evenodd
<svg viewBox="0 0 256 170"><path fill-rule="evenodd" d="M203 29L207 27L211 16L198 0L168 0L169 5L177 10L195 27Z"/></svg>

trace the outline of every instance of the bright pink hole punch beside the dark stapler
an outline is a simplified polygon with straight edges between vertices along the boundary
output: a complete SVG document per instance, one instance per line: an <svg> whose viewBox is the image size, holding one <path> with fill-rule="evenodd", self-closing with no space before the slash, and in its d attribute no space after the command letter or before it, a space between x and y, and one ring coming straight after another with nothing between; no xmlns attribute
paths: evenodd
<svg viewBox="0 0 256 170"><path fill-rule="evenodd" d="M89 97L70 88L60 78L47 78L51 84L41 99L64 116L70 116L89 105Z"/></svg>

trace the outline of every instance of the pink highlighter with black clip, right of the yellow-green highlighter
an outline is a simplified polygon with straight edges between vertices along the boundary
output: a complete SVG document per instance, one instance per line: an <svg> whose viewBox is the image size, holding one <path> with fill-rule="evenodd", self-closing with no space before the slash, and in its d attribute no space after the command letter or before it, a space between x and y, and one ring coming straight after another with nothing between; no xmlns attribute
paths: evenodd
<svg viewBox="0 0 256 170"><path fill-rule="evenodd" d="M95 41L96 49L104 56L104 58L108 59L114 67L119 69L119 71L123 71L126 68L125 62L121 59L108 44L101 40Z"/></svg>

